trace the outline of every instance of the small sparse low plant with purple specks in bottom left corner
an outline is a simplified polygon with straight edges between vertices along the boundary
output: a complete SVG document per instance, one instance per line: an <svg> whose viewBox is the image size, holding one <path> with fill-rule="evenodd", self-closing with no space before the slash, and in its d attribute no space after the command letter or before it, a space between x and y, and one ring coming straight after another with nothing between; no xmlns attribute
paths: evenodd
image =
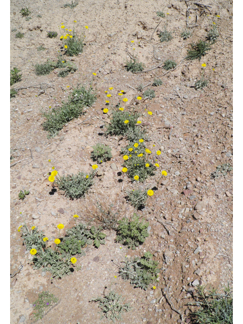
<svg viewBox="0 0 243 324"><path fill-rule="evenodd" d="M58 302L53 294L49 292L42 292L38 295L38 299L33 303L34 313L33 316L36 320L42 319L45 313L50 309L51 306Z"/></svg>

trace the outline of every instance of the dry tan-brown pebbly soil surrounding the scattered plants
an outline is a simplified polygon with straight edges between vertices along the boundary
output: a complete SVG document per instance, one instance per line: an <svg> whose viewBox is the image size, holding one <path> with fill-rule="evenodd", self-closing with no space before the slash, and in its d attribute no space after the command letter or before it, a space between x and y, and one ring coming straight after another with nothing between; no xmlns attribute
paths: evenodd
<svg viewBox="0 0 243 324"><path fill-rule="evenodd" d="M152 287L142 291L117 275L112 287L132 306L121 323L182 322L165 296L170 296L171 304L186 320L188 309L195 309L191 305L194 280L220 290L228 283L232 286L232 172L211 178L217 166L232 165L232 4L205 1L205 5L211 6L210 11L198 18L192 36L183 41L180 34L186 26L187 10L183 1L79 1L73 10L61 8L65 3L66 0L11 2L11 28L24 32L23 39L15 38L11 32L11 68L16 66L23 74L21 82L12 88L27 88L20 90L10 103L12 163L24 159L11 167L11 273L23 265L22 271L11 279L11 323L31 323L32 304L41 291L50 291L61 300L44 316L44 324L106 323L106 319L100 319L98 305L89 300L101 296L104 287L109 287L117 275L111 260L120 264L126 255L140 256L144 251L153 253L160 263L160 280L154 291ZM25 21L19 11L28 6L32 19ZM155 31L150 42L160 21L156 12L163 8L169 15L158 29L163 30L167 21L174 38L169 43L160 43ZM42 18L36 17L39 13ZM198 10L191 9L190 19L194 21L196 14ZM33 64L56 59L60 50L59 39L47 38L47 31L58 31L61 22L72 26L74 19L79 27L89 26L84 52L71 58L78 70L65 78L58 77L55 70L47 76L36 76ZM200 61L184 60L174 71L160 77L163 85L152 87L156 97L137 105L136 97L141 92L128 85L135 89L146 85L165 70L160 67L141 74L127 72L124 64L128 52L131 54L136 47L145 70L161 60L172 58L179 63L186 56L188 44L205 37L212 21L217 22L220 36L208 54ZM37 51L39 46L46 48L42 54ZM196 91L192 86L200 78L201 63L206 63L209 85ZM48 139L42 128L40 108L54 106L55 102L61 104L78 83L90 82L93 72L97 73L93 82L96 103L87 108L84 116L68 123L58 136ZM43 88L43 93L29 87L41 83L51 87ZM160 171L144 184L132 183L125 174L119 175L123 164L120 150L126 141L102 135L104 122L109 122L109 113L102 112L104 91L109 87L113 87L112 98L116 98L117 91L126 92L127 109L135 107L142 114L140 120L145 122L143 127L149 135L147 147L153 154L161 150L160 168L168 176L159 185ZM146 108L152 111L152 117L148 118ZM96 143L109 145L113 158L99 166L102 176L95 179L85 198L71 201L59 192L51 195L51 167L55 166L61 175L88 172L93 164L90 153ZM117 170L110 168L112 163ZM121 216L131 217L134 210L126 203L125 192L138 186L157 188L145 209L138 212L151 226L145 244L130 251L114 241L115 232L107 232L104 246L86 248L86 256L78 259L79 271L54 280L53 284L50 273L32 269L31 257L17 231L21 224L37 226L54 245L57 224L65 225L65 233L73 226L73 215L79 214L84 201L95 198L99 192L122 204ZM30 194L20 201L18 193L23 188Z"/></svg>

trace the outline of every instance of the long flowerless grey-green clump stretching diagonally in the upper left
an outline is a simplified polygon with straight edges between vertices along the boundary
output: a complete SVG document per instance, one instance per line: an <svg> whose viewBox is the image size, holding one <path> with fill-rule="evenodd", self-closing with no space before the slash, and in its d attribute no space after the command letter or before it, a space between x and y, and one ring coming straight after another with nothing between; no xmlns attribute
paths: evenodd
<svg viewBox="0 0 243 324"><path fill-rule="evenodd" d="M84 107L92 106L95 101L96 94L92 87L86 90L84 86L78 85L68 97L68 101L63 102L61 107L42 111L46 118L43 129L49 132L49 137L56 136L68 121L84 114Z"/></svg>

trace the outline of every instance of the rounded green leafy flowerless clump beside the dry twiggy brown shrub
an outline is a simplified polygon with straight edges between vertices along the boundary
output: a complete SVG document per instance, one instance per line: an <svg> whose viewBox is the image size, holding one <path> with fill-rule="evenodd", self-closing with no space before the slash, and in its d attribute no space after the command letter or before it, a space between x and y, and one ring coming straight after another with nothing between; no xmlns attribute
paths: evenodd
<svg viewBox="0 0 243 324"><path fill-rule="evenodd" d="M135 250L136 247L144 243L148 233L149 223L144 220L139 221L139 217L134 214L131 221L123 218L118 221L116 229L116 241L127 246L129 249Z"/></svg>

